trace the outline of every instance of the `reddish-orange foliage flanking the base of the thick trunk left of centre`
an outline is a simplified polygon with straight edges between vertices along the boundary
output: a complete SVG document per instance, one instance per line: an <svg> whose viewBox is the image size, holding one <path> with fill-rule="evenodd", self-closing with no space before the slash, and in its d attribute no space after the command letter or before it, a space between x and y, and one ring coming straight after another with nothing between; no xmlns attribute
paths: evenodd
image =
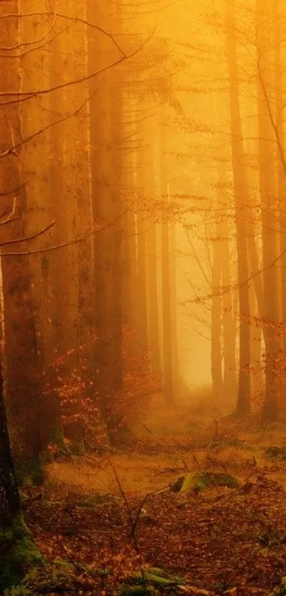
<svg viewBox="0 0 286 596"><path fill-rule="evenodd" d="M96 342L94 337L92 342ZM151 359L145 347L140 345L140 337L127 326L123 328L123 389L115 395L111 388L95 386L97 371L91 369L87 352L91 345L71 348L65 354L55 358L53 363L53 382L46 382L45 394L56 395L60 404L62 426L77 424L92 433L92 443L106 444L106 423L112 422L116 430L126 423L128 413L134 412L136 404L147 405L150 394L161 390L160 374L151 372ZM71 368L75 354L77 367ZM99 374L100 377L100 374ZM106 416L103 420L99 402L99 392L106 399ZM110 407L109 407L110 404Z"/></svg>

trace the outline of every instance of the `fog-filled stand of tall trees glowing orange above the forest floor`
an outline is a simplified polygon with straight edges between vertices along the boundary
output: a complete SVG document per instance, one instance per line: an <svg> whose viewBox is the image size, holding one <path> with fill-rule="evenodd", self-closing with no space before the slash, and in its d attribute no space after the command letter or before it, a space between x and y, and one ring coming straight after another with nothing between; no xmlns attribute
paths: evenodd
<svg viewBox="0 0 286 596"><path fill-rule="evenodd" d="M196 384L285 413L285 16L0 3L2 517L6 418L17 463L131 444Z"/></svg>

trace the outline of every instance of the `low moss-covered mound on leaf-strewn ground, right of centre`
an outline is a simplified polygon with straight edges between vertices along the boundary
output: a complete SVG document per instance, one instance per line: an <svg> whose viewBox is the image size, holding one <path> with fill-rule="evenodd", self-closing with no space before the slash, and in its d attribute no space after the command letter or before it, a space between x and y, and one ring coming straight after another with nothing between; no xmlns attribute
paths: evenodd
<svg viewBox="0 0 286 596"><path fill-rule="evenodd" d="M172 492L201 492L210 487L238 489L242 482L224 472L190 472L180 476L170 487Z"/></svg>

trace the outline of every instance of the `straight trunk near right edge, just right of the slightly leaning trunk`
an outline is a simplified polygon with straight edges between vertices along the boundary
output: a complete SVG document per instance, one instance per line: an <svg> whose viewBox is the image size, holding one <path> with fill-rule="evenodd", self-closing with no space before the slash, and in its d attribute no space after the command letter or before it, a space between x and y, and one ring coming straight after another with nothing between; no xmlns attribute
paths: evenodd
<svg viewBox="0 0 286 596"><path fill-rule="evenodd" d="M263 417L267 421L278 416L277 391L278 376L277 323L279 321L278 280L275 267L272 265L277 257L277 231L275 205L275 188L270 163L274 161L270 140L273 129L268 113L270 95L273 90L273 72L270 70L270 38L269 22L271 22L270 4L265 0L256 1L256 39L258 49L258 151L259 178L261 200L261 222L263 234L263 289L265 317L265 401Z"/></svg>

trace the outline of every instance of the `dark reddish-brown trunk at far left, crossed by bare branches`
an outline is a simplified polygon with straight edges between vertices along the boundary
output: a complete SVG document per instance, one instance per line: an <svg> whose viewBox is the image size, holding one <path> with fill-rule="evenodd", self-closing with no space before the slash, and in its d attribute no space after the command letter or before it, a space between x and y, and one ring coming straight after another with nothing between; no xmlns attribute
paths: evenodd
<svg viewBox="0 0 286 596"><path fill-rule="evenodd" d="M9 27L3 28L1 43L9 46L18 43L18 3L10 3L15 15ZM1 10L5 11L4 4ZM7 4L6 4L7 8ZM20 70L16 58L1 58L1 91L20 90ZM20 107L11 103L0 110L0 153L13 148L21 139ZM26 190L19 174L20 148L15 148L0 160L1 193L4 193L2 209L11 211L11 221L1 228L1 242L25 237ZM8 193L5 196L5 193ZM12 214L12 207L15 211ZM13 217L12 217L13 215ZM39 228L40 229L40 228ZM35 232L35 228L33 229ZM16 244L17 252L27 245ZM38 457L48 433L43 424L42 382L38 362L38 346L35 335L34 311L31 300L31 269L27 256L3 256L1 249L2 299L4 298L4 394L6 414L11 428L13 455L21 462ZM2 300L3 308L3 300Z"/></svg>

